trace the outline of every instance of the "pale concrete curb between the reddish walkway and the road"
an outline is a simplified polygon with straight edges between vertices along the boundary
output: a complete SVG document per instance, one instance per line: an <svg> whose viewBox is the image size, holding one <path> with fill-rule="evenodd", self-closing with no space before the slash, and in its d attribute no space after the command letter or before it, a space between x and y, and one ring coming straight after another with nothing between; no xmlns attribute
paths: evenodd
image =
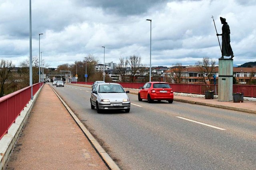
<svg viewBox="0 0 256 170"><path fill-rule="evenodd" d="M50 86L50 85L49 85ZM50 86L51 87L51 86ZM52 88L52 87L51 87ZM76 117L74 112L68 107L68 105L62 100L62 98L57 94L57 92L52 88L54 93L58 96L62 104L66 107L70 115L73 117L76 124L80 127L84 135L88 138L90 143L92 144L92 147L100 154L102 160L107 164L108 168L111 170L120 170L120 168L117 166L117 164L112 160L112 158L108 155L108 153L100 146L100 144L96 141L96 139L93 137L93 135L88 131L88 129L83 125L83 123Z"/></svg>

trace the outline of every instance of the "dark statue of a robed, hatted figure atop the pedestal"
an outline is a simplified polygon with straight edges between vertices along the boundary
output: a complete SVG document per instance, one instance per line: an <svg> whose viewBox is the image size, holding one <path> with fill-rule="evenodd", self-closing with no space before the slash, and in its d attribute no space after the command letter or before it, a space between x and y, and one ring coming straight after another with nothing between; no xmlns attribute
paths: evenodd
<svg viewBox="0 0 256 170"><path fill-rule="evenodd" d="M224 59L224 56L231 56L230 59L234 57L234 53L232 51L232 48L230 46L230 29L229 25L226 22L225 18L220 17L220 21L223 24L222 25L222 34L218 34L217 36L221 35L222 36L222 57L221 59Z"/></svg>

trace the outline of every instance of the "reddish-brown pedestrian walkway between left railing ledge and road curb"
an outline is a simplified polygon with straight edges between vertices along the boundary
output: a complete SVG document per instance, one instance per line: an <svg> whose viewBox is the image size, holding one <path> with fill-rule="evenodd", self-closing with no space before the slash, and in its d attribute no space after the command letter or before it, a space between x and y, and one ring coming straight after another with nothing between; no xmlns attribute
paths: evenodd
<svg viewBox="0 0 256 170"><path fill-rule="evenodd" d="M5 168L108 169L48 84L42 87Z"/></svg>

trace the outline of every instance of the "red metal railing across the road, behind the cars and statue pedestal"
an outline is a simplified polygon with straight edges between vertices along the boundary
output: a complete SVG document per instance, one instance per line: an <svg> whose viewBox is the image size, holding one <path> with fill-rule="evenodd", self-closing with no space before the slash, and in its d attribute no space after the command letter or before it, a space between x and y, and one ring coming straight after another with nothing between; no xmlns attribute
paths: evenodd
<svg viewBox="0 0 256 170"><path fill-rule="evenodd" d="M85 82L71 82L74 84L85 84ZM86 82L88 85L92 85L94 82ZM145 83L124 83L117 82L124 88L140 88ZM191 93L191 94L204 94L206 90L214 90L214 94L218 95L218 84L170 84L172 90L177 93ZM216 89L216 90L215 90ZM216 91L216 92L215 92ZM244 93L244 97L256 98L256 86L255 85L233 85L233 93Z"/></svg>

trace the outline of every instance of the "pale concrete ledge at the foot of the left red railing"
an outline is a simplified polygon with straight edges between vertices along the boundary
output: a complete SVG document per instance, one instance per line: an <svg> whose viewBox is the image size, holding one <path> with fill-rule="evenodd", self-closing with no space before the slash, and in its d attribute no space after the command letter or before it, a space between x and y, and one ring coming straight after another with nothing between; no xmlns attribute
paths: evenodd
<svg viewBox="0 0 256 170"><path fill-rule="evenodd" d="M0 140L0 170L4 168L4 165L8 160L10 152L12 151L20 135L20 132L22 131L22 128L27 121L28 115L32 111L38 94L40 93L43 86L41 86L41 88L36 92L36 94L33 97L33 100L30 100L27 106L24 107L24 110L21 111L20 115L16 118L15 123L13 123L11 127L8 129L8 133L5 134Z"/></svg>

